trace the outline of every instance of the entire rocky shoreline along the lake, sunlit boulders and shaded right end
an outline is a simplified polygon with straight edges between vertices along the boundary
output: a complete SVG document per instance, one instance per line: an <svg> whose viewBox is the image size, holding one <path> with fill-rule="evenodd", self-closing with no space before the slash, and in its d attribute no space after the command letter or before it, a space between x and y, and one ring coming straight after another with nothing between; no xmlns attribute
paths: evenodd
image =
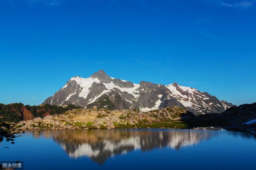
<svg viewBox="0 0 256 170"><path fill-rule="evenodd" d="M205 116L209 117L209 116ZM230 126L218 125L210 118L197 117L181 107L166 107L163 109L142 112L138 110L108 110L108 109L72 109L62 114L36 117L19 123L5 122L0 127L0 141L3 137L13 137L14 134L25 131L40 131L46 129L114 129L114 128L178 128L194 127L224 127L231 131L256 132L255 125ZM199 122L199 123L198 123ZM2 129L2 130L1 130ZM10 139L11 140L11 139Z"/></svg>

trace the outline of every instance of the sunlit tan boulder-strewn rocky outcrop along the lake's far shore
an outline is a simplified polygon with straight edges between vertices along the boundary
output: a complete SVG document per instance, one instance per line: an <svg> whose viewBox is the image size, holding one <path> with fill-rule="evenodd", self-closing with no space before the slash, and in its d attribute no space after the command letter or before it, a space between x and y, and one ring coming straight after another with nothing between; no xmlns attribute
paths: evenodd
<svg viewBox="0 0 256 170"><path fill-rule="evenodd" d="M181 119L194 115L181 107L167 107L155 111L108 109L73 109L59 115L47 115L43 119L20 121L12 133L45 129L113 129L116 127L179 127L184 128ZM180 124L180 126L179 126Z"/></svg>

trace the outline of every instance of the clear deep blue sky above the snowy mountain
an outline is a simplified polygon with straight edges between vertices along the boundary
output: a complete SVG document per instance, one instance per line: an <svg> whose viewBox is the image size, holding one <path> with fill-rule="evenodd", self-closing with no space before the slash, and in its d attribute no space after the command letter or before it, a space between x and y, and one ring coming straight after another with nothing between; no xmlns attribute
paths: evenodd
<svg viewBox="0 0 256 170"><path fill-rule="evenodd" d="M256 0L0 0L0 103L99 69L256 102Z"/></svg>

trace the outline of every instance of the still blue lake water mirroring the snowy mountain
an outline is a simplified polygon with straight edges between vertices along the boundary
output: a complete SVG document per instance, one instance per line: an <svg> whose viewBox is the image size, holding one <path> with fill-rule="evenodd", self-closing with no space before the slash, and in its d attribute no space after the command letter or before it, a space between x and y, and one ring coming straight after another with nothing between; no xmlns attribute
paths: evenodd
<svg viewBox="0 0 256 170"><path fill-rule="evenodd" d="M256 169L256 136L223 129L47 130L14 142L0 143L0 160L25 170Z"/></svg>

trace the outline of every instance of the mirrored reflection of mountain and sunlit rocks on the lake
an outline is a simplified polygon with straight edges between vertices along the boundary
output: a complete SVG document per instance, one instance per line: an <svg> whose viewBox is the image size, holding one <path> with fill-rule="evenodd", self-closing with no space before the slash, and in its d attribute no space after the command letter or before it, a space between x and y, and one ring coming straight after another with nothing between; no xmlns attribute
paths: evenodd
<svg viewBox="0 0 256 170"><path fill-rule="evenodd" d="M92 129L46 130L34 132L33 136L53 138L71 158L88 156L103 164L110 156L116 154L162 147L178 150L217 134L218 131L203 130Z"/></svg>

